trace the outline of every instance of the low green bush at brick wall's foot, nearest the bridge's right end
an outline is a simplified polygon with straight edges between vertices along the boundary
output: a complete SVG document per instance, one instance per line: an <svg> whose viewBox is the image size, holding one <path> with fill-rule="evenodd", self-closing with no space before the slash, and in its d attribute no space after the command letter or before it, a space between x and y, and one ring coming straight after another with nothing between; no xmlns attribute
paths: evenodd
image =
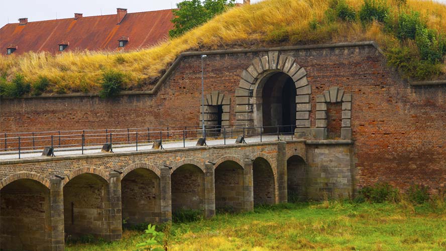
<svg viewBox="0 0 446 251"><path fill-rule="evenodd" d="M398 199L398 189L393 188L388 183L376 183L371 187L363 187L360 194L364 196L370 202L383 203L385 201L397 202Z"/></svg>

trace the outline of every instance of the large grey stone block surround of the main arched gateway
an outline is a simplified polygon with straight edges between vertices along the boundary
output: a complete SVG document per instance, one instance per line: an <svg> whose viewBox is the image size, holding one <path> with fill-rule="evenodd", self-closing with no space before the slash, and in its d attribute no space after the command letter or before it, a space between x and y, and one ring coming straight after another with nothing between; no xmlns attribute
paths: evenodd
<svg viewBox="0 0 446 251"><path fill-rule="evenodd" d="M242 71L239 87L236 88L236 125L259 126L255 124L253 96L260 80L271 72L283 72L289 75L296 87L296 132L304 133L311 127L311 86L306 78L307 72L296 63L292 56L279 51L269 51L268 55L256 57L251 65Z"/></svg>

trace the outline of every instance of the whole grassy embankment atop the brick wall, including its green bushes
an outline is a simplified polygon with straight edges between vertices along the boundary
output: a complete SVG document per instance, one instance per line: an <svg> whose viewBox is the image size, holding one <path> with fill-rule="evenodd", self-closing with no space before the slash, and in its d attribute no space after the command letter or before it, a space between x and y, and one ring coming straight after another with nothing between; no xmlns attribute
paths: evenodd
<svg viewBox="0 0 446 251"><path fill-rule="evenodd" d="M446 47L442 33L446 30L446 6L421 0L376 2L374 7L381 10L376 15L381 18L372 21L365 20L364 14L361 16L364 0L339 2L342 3L266 0L233 8L179 38L128 53L85 51L57 56L45 53L0 56L0 84L3 81L4 96L99 92L103 73L114 69L125 74L118 88L148 90L184 51L367 40L377 41L385 52L390 52L392 64L408 77L432 79L444 72L442 56ZM383 6L387 9L385 17L382 17ZM375 12L369 11L366 16ZM420 13L418 21L412 11ZM414 27L428 30L418 32L415 39ZM405 50L398 51L401 47ZM17 79L17 74L23 78Z"/></svg>

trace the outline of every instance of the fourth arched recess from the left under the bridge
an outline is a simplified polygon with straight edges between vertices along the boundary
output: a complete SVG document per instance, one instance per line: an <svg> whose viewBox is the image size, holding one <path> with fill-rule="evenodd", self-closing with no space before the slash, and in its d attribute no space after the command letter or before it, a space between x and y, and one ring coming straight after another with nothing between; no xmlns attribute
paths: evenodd
<svg viewBox="0 0 446 251"><path fill-rule="evenodd" d="M170 179L172 214L187 209L204 210L204 172L201 168L193 164L181 165Z"/></svg>

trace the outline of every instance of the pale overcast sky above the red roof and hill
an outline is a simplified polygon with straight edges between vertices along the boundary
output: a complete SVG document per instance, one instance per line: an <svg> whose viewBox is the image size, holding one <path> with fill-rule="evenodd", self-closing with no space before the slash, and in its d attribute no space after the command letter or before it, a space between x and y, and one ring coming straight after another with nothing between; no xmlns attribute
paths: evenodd
<svg viewBox="0 0 446 251"><path fill-rule="evenodd" d="M2 2L7 0L2 0ZM182 0L21 0L9 2L0 8L0 27L8 23L18 23L19 18L28 22L74 18L74 13L84 17L116 14L116 8L128 9L129 13L172 9ZM261 0L251 0L257 3ZM236 3L243 3L237 0Z"/></svg>

